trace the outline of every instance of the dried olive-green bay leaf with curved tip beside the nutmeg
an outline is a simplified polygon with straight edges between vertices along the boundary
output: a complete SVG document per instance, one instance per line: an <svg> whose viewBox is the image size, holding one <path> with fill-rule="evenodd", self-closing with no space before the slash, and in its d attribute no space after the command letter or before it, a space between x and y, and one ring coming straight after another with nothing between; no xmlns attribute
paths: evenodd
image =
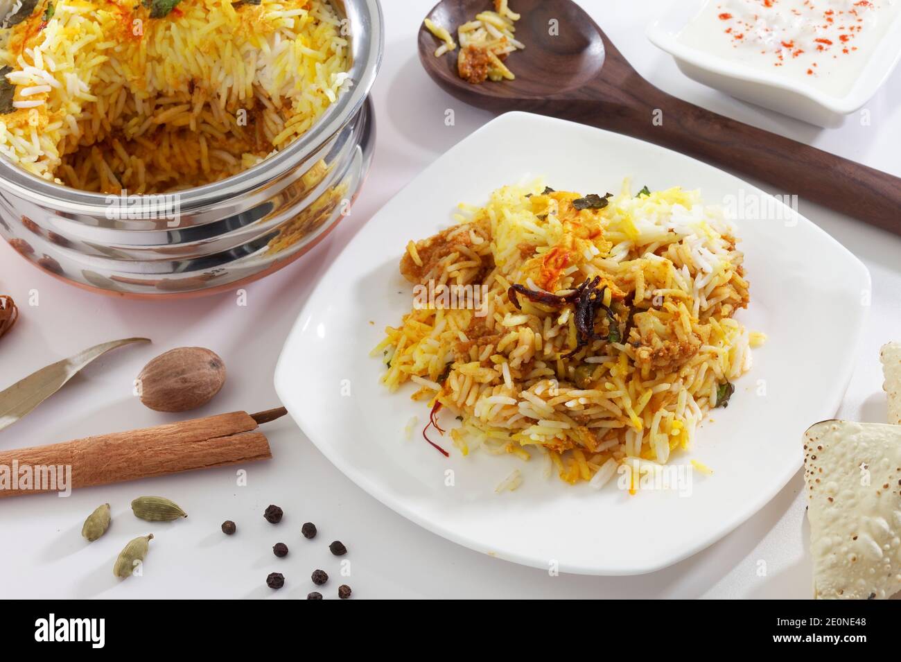
<svg viewBox="0 0 901 662"><path fill-rule="evenodd" d="M126 338L110 340L95 347L78 352L74 357L42 367L35 373L0 391L0 430L12 425L29 413L44 400L55 394L69 379L82 368L110 349L116 349L132 342L150 342L149 338Z"/></svg>

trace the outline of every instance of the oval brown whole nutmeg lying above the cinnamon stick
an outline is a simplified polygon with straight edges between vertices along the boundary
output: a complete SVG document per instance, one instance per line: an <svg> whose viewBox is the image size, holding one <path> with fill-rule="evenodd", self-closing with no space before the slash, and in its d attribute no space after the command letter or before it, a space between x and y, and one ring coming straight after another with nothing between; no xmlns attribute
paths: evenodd
<svg viewBox="0 0 901 662"><path fill-rule="evenodd" d="M170 349L138 375L141 403L156 412L187 412L213 399L225 383L225 364L202 347Z"/></svg>

